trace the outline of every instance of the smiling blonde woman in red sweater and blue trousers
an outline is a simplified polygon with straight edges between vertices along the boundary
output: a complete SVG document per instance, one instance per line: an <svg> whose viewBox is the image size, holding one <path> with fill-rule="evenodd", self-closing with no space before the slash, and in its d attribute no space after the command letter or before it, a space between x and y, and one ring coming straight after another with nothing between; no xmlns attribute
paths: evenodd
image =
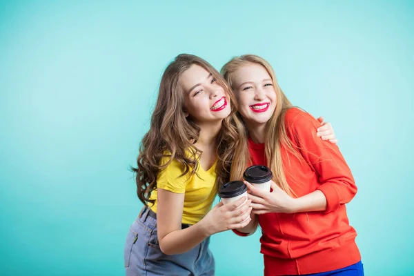
<svg viewBox="0 0 414 276"><path fill-rule="evenodd" d="M248 165L273 171L271 192L250 189L252 220L239 235L262 227L264 275L364 275L345 204L357 187L339 148L314 135L321 125L294 108L270 64L255 55L221 69L237 97L240 142L231 168L242 179Z"/></svg>

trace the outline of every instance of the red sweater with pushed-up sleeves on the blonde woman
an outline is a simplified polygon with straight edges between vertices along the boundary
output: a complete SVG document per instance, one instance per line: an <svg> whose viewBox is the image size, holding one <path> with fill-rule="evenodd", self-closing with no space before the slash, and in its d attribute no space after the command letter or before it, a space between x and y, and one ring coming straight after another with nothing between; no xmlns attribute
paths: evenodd
<svg viewBox="0 0 414 276"><path fill-rule="evenodd" d="M264 275L303 275L351 266L361 260L357 233L345 207L357 193L351 170L335 144L316 136L320 124L311 115L290 108L285 124L304 159L301 164L282 147L286 181L297 197L322 191L327 206L324 212L259 215ZM249 139L248 148L253 165L268 165L264 144Z"/></svg>

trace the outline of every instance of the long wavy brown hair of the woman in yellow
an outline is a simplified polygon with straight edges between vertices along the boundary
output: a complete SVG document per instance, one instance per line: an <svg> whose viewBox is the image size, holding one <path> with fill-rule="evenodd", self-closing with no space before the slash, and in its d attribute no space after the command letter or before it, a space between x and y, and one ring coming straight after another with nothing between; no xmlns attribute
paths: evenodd
<svg viewBox="0 0 414 276"><path fill-rule="evenodd" d="M224 88L230 101L231 113L222 121L221 130L216 138L217 144L217 182L228 180L233 152L237 144L237 130L233 124L236 101L233 91L223 77L204 59L195 55L178 55L166 68L159 84L159 93L155 110L152 113L150 130L144 135L139 147L135 182L139 200L148 206L152 190L157 189L157 174L177 160L183 169L181 177L197 174L198 159L201 150L194 144L199 139L200 128L190 116L184 115L184 90L179 82L181 74L190 66L197 64L209 71ZM160 165L161 158L168 157L168 162ZM188 174L189 173L189 174ZM212 184L213 185L213 184Z"/></svg>

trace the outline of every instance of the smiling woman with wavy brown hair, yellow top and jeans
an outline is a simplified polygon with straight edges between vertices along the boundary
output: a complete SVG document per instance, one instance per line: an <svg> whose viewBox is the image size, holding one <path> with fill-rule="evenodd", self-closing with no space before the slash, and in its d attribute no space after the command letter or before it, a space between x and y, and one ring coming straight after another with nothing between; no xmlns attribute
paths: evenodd
<svg viewBox="0 0 414 276"><path fill-rule="evenodd" d="M250 221L244 199L210 210L238 141L234 112L208 62L179 55L168 65L134 169L145 206L126 240L126 275L214 275L210 235Z"/></svg>

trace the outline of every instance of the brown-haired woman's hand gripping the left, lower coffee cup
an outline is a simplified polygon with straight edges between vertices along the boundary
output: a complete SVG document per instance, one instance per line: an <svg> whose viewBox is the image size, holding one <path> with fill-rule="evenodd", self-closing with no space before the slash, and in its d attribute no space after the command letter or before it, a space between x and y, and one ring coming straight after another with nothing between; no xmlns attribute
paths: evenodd
<svg viewBox="0 0 414 276"><path fill-rule="evenodd" d="M200 222L204 224L207 235L223 232L226 230L243 228L251 218L251 200L246 198L224 205L223 201L214 206Z"/></svg>

